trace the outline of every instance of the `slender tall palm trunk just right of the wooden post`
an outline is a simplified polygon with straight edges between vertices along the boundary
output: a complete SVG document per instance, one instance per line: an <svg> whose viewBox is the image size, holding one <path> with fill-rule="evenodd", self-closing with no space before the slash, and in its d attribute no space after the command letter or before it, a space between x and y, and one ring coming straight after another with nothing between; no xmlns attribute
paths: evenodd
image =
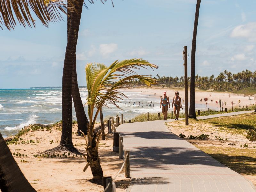
<svg viewBox="0 0 256 192"><path fill-rule="evenodd" d="M197 0L196 3L196 13L194 21L194 31L192 39L192 50L191 50L191 75L190 75L190 103L189 103L189 118L196 119L196 109L195 109L195 57L196 57L196 34L197 34L197 25L199 18L199 8L201 0Z"/></svg>

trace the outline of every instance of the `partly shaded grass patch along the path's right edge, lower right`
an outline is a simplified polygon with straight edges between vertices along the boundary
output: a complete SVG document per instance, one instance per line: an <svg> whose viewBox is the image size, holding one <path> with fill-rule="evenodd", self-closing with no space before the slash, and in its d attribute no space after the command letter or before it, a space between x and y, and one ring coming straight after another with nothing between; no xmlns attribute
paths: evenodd
<svg viewBox="0 0 256 192"><path fill-rule="evenodd" d="M195 146L235 172L256 175L255 149Z"/></svg>

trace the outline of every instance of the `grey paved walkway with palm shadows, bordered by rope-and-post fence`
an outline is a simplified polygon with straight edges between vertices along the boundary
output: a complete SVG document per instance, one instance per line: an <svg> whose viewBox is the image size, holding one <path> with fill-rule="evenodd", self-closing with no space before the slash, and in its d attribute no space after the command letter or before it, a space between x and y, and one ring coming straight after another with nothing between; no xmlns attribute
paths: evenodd
<svg viewBox="0 0 256 192"><path fill-rule="evenodd" d="M236 114L241 112L228 115ZM256 191L240 174L171 133L165 122L125 123L118 127L125 149L130 150L133 184L127 191Z"/></svg>

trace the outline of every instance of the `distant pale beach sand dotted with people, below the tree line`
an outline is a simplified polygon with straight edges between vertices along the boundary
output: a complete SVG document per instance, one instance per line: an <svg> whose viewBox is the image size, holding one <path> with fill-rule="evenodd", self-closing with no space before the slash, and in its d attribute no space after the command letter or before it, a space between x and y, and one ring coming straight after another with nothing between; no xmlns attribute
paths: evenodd
<svg viewBox="0 0 256 192"><path fill-rule="evenodd" d="M133 87L129 90L129 92L139 92L141 94L146 94L146 95L150 95L151 97L154 98L159 98L159 103L160 103L160 97L163 95L163 92L166 91L167 92L167 96L169 97L170 101L173 100L173 97L175 95L175 92L178 91L179 92L179 96L181 97L181 99L184 99L185 102L185 90L184 88L180 88L180 87L174 87L174 88L162 88L162 87ZM155 94L156 93L156 94ZM154 95L155 94L155 95ZM230 97L229 97L230 95ZM189 102L189 98L190 98L190 91L188 89L188 102ZM208 98L209 101L207 101L207 106L205 105L204 102L204 98ZM200 101L200 99L202 99L202 102ZM211 103L211 99L213 100L213 102ZM213 91L204 91L204 90L198 90L195 89L195 102L197 104L202 104L202 108L219 108L219 100L221 99L221 101L225 102L226 101L226 106L224 105L223 107L231 109L232 105L231 102L233 101L233 107L239 107L238 104L238 100L240 100L240 105L241 108L243 108L243 106L245 107L250 106L252 104L256 104L256 101L254 100L254 96L249 97L246 96L244 97L243 94L233 94L233 93L229 93L229 92L213 92ZM215 101L218 101L218 105L216 105ZM183 102L183 103L184 103ZM170 102L171 107L172 107L172 102ZM222 105L221 105L222 107Z"/></svg>

